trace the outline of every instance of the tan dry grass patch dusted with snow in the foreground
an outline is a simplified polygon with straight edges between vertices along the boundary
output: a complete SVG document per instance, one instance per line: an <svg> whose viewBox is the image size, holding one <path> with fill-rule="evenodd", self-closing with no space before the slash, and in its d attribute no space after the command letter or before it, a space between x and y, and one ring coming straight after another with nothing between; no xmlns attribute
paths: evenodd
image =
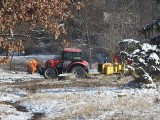
<svg viewBox="0 0 160 120"><path fill-rule="evenodd" d="M42 100L44 98L49 98L50 100L61 100L68 105L67 108L69 108L69 111L67 111L68 109L66 108L66 111L63 113L57 115L54 113L53 115L50 115L49 118L54 118L54 120L82 119L83 117L86 119L99 119L99 117L105 112L114 112L114 114L106 116L109 119L118 118L127 120L133 119L136 115L140 115L142 111L145 111L154 105L154 103L150 103L145 98L138 96L117 96L108 100L107 97L101 95L96 95L93 98L91 95L77 93L68 94L67 92L61 96L56 96L55 94L32 94L25 97L23 100L34 101ZM41 118L41 120L45 119L48 118Z"/></svg>

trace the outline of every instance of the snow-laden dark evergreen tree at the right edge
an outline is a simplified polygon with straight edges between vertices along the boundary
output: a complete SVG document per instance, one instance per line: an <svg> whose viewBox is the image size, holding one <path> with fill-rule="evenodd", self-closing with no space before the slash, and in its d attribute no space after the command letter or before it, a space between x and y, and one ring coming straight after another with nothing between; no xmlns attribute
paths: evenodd
<svg viewBox="0 0 160 120"><path fill-rule="evenodd" d="M160 0L157 0L157 3L160 3ZM119 42L119 45L123 48L121 49L121 55L132 61L128 68L131 71L135 71L138 76L136 80L140 83L151 84L153 83L153 78L160 74L160 19L156 19L140 28L141 33L148 36L148 38L150 38L150 33L154 30L157 33L156 36L147 43L140 43L131 39Z"/></svg>

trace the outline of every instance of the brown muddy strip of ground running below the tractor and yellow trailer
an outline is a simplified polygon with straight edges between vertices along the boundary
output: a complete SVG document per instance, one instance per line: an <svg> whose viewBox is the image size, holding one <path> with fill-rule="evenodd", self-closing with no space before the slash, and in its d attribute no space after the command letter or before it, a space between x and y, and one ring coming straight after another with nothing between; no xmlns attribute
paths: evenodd
<svg viewBox="0 0 160 120"><path fill-rule="evenodd" d="M24 82L14 82L9 83L15 88L25 89L28 92L35 93L40 89L52 89L52 88L68 88L68 87L102 87L102 86L110 86L110 87L119 87L126 83L128 77L121 77L119 79L115 76L109 77L94 77L88 79L78 79L78 80L46 80L46 79L38 79Z"/></svg>

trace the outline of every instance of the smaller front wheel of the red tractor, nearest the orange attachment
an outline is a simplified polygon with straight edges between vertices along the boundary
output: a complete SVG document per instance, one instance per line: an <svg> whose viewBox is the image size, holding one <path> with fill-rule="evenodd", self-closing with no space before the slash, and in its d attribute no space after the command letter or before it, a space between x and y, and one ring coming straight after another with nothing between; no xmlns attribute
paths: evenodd
<svg viewBox="0 0 160 120"><path fill-rule="evenodd" d="M44 71L44 77L46 79L54 79L54 78L57 78L57 71L53 68L47 68L45 71Z"/></svg>

